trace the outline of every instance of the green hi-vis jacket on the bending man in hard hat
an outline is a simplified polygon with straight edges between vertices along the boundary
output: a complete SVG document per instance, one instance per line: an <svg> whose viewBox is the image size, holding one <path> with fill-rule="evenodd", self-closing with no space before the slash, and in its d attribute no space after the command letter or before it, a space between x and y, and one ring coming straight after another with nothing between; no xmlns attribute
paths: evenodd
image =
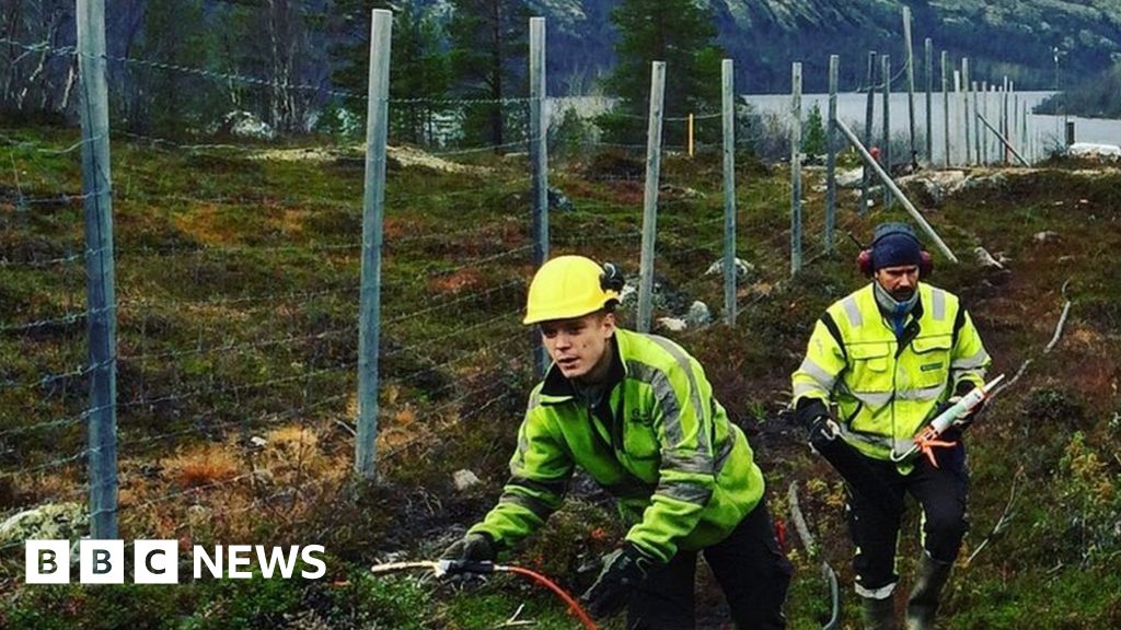
<svg viewBox="0 0 1121 630"><path fill-rule="evenodd" d="M498 504L471 531L509 547L559 508L574 466L618 500L627 540L668 562L725 538L754 509L763 478L701 364L666 339L617 330L597 404L553 365L529 397Z"/></svg>

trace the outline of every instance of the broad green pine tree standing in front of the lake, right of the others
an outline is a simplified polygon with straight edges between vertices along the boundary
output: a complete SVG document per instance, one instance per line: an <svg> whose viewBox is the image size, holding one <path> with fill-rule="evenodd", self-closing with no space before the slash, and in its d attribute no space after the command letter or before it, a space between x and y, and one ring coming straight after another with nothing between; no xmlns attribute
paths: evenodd
<svg viewBox="0 0 1121 630"><path fill-rule="evenodd" d="M721 57L711 10L694 0L622 0L611 13L619 29L618 62L606 85L615 109L596 121L608 138L642 142L650 102L650 64L666 62L665 115L719 111ZM685 127L665 126L667 145L682 143Z"/></svg>

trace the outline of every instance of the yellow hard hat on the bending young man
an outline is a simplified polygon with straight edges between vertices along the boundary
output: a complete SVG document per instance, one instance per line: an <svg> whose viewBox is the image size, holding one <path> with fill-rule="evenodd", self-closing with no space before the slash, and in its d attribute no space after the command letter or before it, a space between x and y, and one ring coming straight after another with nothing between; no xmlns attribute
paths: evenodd
<svg viewBox="0 0 1121 630"><path fill-rule="evenodd" d="M622 275L583 256L558 256L537 270L529 284L524 324L581 317L619 300Z"/></svg>

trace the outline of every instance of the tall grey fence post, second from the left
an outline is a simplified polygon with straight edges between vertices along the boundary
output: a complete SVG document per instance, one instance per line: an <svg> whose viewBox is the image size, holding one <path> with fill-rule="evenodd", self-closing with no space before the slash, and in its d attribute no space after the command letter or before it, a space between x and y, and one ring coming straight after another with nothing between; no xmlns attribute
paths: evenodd
<svg viewBox="0 0 1121 630"><path fill-rule="evenodd" d="M389 41L393 15L373 9L370 85L365 118L365 194L362 200L362 295L358 337L358 434L354 472L377 478L378 356L381 341L381 237L386 205L386 140L389 133Z"/></svg>

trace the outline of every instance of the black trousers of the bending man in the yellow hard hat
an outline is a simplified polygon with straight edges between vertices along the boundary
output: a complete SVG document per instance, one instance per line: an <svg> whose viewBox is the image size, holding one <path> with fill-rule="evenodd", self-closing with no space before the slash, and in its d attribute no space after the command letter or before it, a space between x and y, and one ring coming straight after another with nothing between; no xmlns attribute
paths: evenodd
<svg viewBox="0 0 1121 630"><path fill-rule="evenodd" d="M793 568L778 547L763 501L728 538L701 550L740 630L786 628L782 603ZM697 552L678 552L628 602L628 630L692 630Z"/></svg>

